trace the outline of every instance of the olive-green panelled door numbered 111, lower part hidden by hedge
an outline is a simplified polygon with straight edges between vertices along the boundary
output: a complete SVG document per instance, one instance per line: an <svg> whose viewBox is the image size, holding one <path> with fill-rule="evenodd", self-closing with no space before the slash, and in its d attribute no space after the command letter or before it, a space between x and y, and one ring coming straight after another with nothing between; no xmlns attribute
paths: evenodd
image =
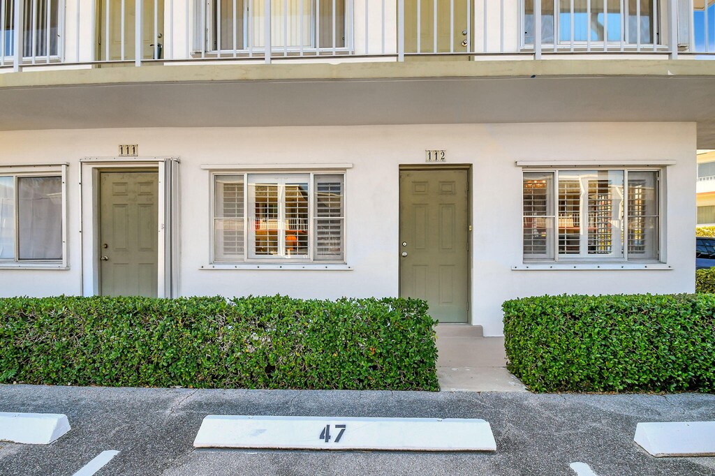
<svg viewBox="0 0 715 476"><path fill-rule="evenodd" d="M157 297L157 172L99 174L99 294Z"/></svg>

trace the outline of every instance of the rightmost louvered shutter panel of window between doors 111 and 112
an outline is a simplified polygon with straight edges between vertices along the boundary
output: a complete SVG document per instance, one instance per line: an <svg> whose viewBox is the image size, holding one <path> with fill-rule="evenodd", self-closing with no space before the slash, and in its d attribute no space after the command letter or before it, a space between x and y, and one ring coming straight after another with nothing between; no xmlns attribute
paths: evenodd
<svg viewBox="0 0 715 476"><path fill-rule="evenodd" d="M344 180L342 175L315 176L315 259L343 259L345 246Z"/></svg>

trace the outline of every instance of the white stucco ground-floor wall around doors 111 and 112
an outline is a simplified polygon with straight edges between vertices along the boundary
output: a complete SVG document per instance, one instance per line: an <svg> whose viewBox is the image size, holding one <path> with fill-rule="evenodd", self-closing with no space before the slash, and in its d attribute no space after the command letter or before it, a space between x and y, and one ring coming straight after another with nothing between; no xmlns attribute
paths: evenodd
<svg viewBox="0 0 715 476"><path fill-rule="evenodd" d="M502 332L501 303L561 293L694 290L695 124L459 124L366 127L96 129L2 132L0 164L68 162L69 270L0 269L0 295L79 294L79 158L114 157L118 144L142 156L181 158L183 295L288 294L293 297L398 293L400 164L424 164L425 149L472 165L472 323ZM671 269L519 271L521 168L517 160L670 160L665 257ZM349 271L206 270L209 171L202 164L352 163L346 175ZM86 277L85 277L86 279Z"/></svg>

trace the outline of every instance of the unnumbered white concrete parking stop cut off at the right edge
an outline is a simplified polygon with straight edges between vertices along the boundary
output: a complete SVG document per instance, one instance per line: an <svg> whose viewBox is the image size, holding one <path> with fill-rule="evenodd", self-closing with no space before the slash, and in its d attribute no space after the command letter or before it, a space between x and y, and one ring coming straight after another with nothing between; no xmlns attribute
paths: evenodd
<svg viewBox="0 0 715 476"><path fill-rule="evenodd" d="M656 457L715 456L715 422L638 423L634 440Z"/></svg>

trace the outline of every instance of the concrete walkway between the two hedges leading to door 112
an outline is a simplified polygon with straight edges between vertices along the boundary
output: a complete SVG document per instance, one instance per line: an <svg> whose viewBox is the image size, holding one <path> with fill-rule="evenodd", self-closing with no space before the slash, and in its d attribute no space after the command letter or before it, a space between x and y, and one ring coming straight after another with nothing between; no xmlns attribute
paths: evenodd
<svg viewBox="0 0 715 476"><path fill-rule="evenodd" d="M438 324L437 377L443 392L527 392L506 370L503 337L483 337L479 326Z"/></svg>

